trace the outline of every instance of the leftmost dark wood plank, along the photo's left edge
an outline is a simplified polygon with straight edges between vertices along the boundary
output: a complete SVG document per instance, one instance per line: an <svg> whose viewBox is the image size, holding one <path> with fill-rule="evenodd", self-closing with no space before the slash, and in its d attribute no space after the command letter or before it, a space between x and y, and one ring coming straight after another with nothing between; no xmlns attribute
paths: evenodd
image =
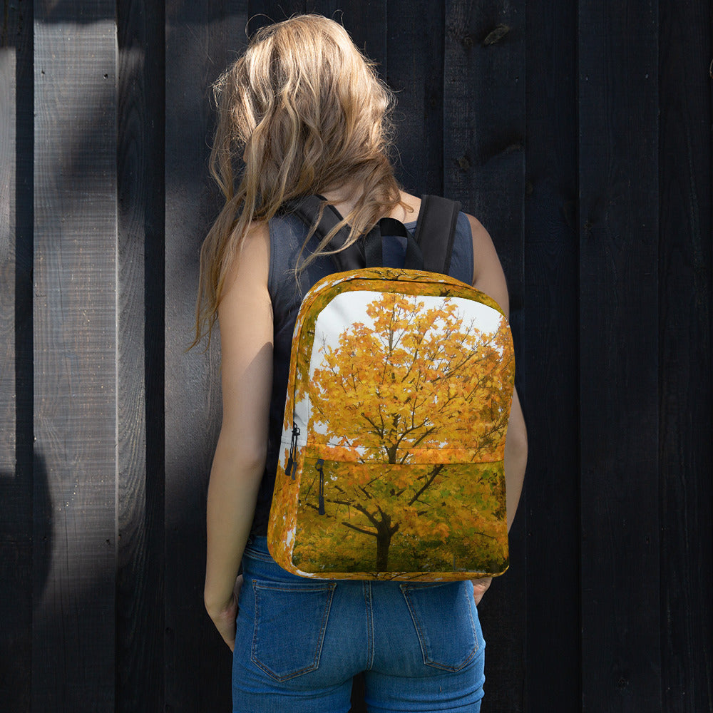
<svg viewBox="0 0 713 713"><path fill-rule="evenodd" d="M17 7L6 8L0 21L0 701L20 712L29 710L32 686L31 438L19 443L28 431L31 436L31 390L23 377L31 364L26 300L32 293L21 244L31 200L21 181L31 175L32 156L19 150L27 148L23 122L29 118L30 133L32 127L31 37L31 13L28 22Z"/></svg>

